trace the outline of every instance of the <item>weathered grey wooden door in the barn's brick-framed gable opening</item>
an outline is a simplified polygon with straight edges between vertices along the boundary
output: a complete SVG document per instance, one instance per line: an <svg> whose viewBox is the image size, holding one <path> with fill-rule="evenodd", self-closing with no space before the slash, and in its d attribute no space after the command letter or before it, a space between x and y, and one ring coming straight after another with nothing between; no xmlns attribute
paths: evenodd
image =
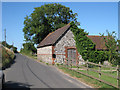
<svg viewBox="0 0 120 90"><path fill-rule="evenodd" d="M76 65L76 49L67 49L67 57L68 57L68 64L71 64L71 60L72 60L72 64Z"/></svg>

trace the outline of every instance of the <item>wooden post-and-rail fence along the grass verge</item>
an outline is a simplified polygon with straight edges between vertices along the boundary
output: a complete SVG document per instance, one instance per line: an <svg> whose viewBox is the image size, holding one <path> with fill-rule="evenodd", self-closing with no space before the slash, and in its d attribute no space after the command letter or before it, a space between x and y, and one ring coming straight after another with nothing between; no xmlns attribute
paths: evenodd
<svg viewBox="0 0 120 90"><path fill-rule="evenodd" d="M72 63L73 63L72 60L70 60L70 64L68 65L68 60L67 60L67 62L65 62L64 64L70 70L75 70L76 72L79 72L79 73L81 73L83 75L86 75L88 77L91 77L93 79L99 80L99 81L101 81L103 83L106 83L108 85L111 85L113 87L116 87L116 88L120 89L120 65L117 65L117 67L105 66L105 65L102 65L100 62L99 62L99 64L96 64L96 63L88 62L88 60L87 60L87 61L85 61L84 65L77 64L76 68L75 68L75 67L73 67ZM98 66L98 70L90 68L91 65ZM113 76L113 75L110 75L110 74L107 74L107 73L103 73L102 70L101 70L102 67L103 68L110 68L110 70L108 70L108 71L116 72L117 73L116 76ZM86 73L82 72L82 70L80 71L80 68L85 70ZM95 76L89 75L89 71L98 73L98 78L95 77ZM112 84L111 82L108 82L108 81L105 81L105 80L101 79L102 75L116 79L117 84L115 85L115 84Z"/></svg>

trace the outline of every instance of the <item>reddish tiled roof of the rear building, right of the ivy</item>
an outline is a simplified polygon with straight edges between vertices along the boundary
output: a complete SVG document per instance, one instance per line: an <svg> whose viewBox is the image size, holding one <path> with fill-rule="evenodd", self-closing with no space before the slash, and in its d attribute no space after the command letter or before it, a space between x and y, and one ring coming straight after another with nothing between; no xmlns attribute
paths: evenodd
<svg viewBox="0 0 120 90"><path fill-rule="evenodd" d="M101 36L92 36L92 35L87 35L87 37L90 38L93 41L93 43L96 44L95 48L97 50L106 50L107 49L107 47L105 46L105 41L104 41L103 37L101 37Z"/></svg>

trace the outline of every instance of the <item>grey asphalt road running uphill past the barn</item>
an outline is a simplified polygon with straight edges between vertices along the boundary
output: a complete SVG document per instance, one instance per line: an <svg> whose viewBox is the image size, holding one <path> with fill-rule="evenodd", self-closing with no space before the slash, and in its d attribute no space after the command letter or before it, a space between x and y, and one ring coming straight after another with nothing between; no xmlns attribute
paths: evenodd
<svg viewBox="0 0 120 90"><path fill-rule="evenodd" d="M21 54L16 54L14 64L4 73L6 88L90 88L53 66L38 63Z"/></svg>

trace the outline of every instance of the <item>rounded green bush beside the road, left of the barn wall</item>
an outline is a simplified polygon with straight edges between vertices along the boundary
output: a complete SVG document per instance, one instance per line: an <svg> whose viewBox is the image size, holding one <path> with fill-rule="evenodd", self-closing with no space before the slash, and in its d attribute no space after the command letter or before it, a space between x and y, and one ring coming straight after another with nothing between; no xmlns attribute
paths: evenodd
<svg viewBox="0 0 120 90"><path fill-rule="evenodd" d="M34 47L33 43L24 43L23 48L20 52L24 52L25 54L34 54L37 52L37 49Z"/></svg>

